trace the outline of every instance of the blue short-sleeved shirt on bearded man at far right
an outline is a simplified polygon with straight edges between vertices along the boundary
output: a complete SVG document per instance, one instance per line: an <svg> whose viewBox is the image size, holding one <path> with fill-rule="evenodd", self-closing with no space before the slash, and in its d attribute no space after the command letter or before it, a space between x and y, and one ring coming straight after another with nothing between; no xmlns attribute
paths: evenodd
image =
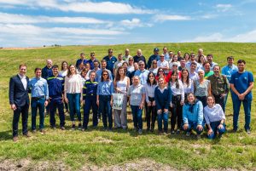
<svg viewBox="0 0 256 171"><path fill-rule="evenodd" d="M239 73L238 71L236 71L231 75L231 78L230 78L230 83L234 84L239 94L244 93L247 90L247 88L250 86L250 83L252 82L254 82L253 73L250 71L244 71L242 73ZM231 93L233 94L232 97L238 99L238 96L233 91ZM245 96L245 99L253 100L252 91L250 91L250 93L248 93Z"/></svg>

